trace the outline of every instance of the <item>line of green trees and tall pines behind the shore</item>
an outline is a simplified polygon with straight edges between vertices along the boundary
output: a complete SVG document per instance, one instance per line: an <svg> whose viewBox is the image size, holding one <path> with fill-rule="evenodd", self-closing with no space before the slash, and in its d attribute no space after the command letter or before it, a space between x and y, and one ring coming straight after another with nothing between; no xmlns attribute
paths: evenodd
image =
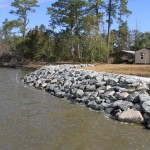
<svg viewBox="0 0 150 150"><path fill-rule="evenodd" d="M129 30L127 5L128 0L56 0L47 7L49 28L28 29L38 1L14 0L10 14L16 19L3 22L0 53L40 61L106 62L111 52L150 47L149 32ZM118 29L112 30L114 22Z"/></svg>

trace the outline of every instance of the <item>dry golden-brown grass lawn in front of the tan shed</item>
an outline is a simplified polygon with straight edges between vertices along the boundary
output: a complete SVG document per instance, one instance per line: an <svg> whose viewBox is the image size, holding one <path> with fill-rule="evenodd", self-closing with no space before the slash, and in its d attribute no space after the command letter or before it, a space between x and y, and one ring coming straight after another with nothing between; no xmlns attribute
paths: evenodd
<svg viewBox="0 0 150 150"><path fill-rule="evenodd" d="M136 75L150 77L150 65L135 64L99 64L95 67L84 68L85 70L94 70L97 72L110 72L116 74Z"/></svg>

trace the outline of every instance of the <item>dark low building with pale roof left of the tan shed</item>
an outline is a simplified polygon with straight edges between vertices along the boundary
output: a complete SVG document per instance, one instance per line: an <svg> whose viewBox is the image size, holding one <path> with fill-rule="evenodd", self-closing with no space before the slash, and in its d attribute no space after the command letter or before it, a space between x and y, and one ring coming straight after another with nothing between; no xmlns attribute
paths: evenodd
<svg viewBox="0 0 150 150"><path fill-rule="evenodd" d="M121 50L119 52L111 53L109 63L134 63L135 51Z"/></svg>

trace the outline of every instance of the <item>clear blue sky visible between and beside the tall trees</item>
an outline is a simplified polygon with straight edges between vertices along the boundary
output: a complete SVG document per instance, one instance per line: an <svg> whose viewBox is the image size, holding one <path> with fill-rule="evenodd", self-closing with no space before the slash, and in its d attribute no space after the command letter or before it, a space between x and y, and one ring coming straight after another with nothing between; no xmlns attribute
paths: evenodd
<svg viewBox="0 0 150 150"><path fill-rule="evenodd" d="M0 0L0 26L5 18L9 20L15 19L9 12L12 9L10 7L11 2L14 0ZM36 12L29 14L28 28L33 28L36 25L44 24L48 27L49 16L47 13L47 7L50 7L56 0L38 0L40 7L36 8ZM132 11L132 14L128 17L129 29L137 29L141 32L150 32L150 0L128 0L128 9ZM117 28L117 24L114 21L111 29Z"/></svg>

